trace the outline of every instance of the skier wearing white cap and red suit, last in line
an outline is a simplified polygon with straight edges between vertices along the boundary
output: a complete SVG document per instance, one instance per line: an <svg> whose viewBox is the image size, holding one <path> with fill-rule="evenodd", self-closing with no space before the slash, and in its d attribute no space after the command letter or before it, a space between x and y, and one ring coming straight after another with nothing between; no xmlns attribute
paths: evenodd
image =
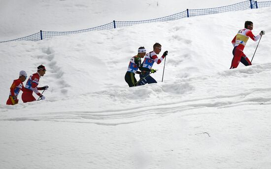
<svg viewBox="0 0 271 169"><path fill-rule="evenodd" d="M25 82L26 78L27 78L27 73L23 70L20 71L19 79L14 80L13 83L11 84L9 97L6 101L7 105L16 105L19 102L17 97L21 90L22 91L25 90L23 82Z"/></svg>

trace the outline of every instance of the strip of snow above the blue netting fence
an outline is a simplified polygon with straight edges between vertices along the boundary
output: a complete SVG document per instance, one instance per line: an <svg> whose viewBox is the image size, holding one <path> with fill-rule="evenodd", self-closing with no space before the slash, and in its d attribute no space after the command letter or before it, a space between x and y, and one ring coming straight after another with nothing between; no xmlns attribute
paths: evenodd
<svg viewBox="0 0 271 169"><path fill-rule="evenodd" d="M113 20L155 19L187 8L211 8L237 2L240 0L0 0L0 16L5 16L0 17L0 42L39 30L81 30Z"/></svg>

